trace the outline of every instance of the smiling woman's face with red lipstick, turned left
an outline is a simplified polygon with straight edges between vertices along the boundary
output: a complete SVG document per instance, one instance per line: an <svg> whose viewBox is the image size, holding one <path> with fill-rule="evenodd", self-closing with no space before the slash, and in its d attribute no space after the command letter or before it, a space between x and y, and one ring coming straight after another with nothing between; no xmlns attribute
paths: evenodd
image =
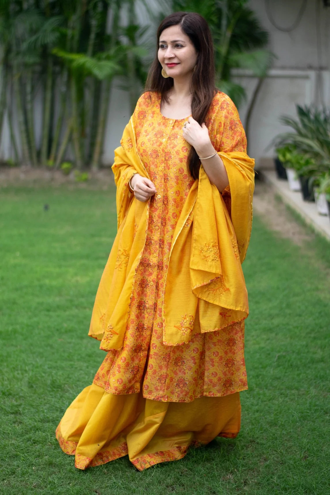
<svg viewBox="0 0 330 495"><path fill-rule="evenodd" d="M189 36L180 26L164 29L159 37L158 60L168 76L191 75L197 61L197 52Z"/></svg>

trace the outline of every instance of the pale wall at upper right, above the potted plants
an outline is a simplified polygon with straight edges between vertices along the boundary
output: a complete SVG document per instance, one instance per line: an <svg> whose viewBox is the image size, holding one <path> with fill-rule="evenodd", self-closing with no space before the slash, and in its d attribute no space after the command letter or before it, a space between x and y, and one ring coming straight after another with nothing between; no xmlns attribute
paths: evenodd
<svg viewBox="0 0 330 495"><path fill-rule="evenodd" d="M292 25L302 0L269 0L273 20L280 27ZM265 0L251 0L261 24L270 33L269 49L277 56L256 100L249 129L249 153L256 167L267 165L274 149L273 138L287 130L279 122L283 114L295 116L296 104L321 103L330 106L330 7L321 0L308 0L299 25L291 32L274 27L267 15ZM257 80L241 72L236 77L248 94L239 108L243 124Z"/></svg>

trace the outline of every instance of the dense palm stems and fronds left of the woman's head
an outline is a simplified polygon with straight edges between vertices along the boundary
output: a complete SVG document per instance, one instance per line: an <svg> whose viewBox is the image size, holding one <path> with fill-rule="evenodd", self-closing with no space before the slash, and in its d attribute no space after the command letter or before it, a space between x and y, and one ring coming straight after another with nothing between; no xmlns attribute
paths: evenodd
<svg viewBox="0 0 330 495"><path fill-rule="evenodd" d="M3 69L9 84L15 82L21 142L13 148L22 149L23 163L47 166L51 160L58 166L71 146L77 168L99 165L114 77L130 91L132 106L146 79L142 43L149 28L136 16L142 6L149 15L144 0L0 1ZM40 85L45 98L38 149L34 101Z"/></svg>

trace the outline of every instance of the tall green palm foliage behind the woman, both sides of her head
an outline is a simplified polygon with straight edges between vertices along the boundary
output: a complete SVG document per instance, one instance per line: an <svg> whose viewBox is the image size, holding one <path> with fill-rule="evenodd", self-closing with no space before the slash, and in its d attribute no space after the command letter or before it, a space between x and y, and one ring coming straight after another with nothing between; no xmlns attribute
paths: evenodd
<svg viewBox="0 0 330 495"><path fill-rule="evenodd" d="M3 70L14 89L19 124L20 146L12 147L22 150L22 163L48 166L50 160L58 167L70 147L77 169L99 166L113 80L119 76L133 113L154 56L149 24L159 7L206 18L215 41L217 85L237 105L245 91L233 81L232 69L264 77L271 66L268 34L247 0L156 0L152 6L147 0L0 0ZM41 146L35 137L37 88L44 95Z"/></svg>

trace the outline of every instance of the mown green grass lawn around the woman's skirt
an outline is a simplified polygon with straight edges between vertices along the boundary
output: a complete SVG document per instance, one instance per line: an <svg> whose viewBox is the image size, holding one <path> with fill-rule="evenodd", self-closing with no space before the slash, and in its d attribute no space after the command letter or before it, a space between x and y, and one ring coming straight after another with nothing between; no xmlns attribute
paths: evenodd
<svg viewBox="0 0 330 495"><path fill-rule="evenodd" d="M115 233L114 189L0 192L0 494L330 494L330 247L258 218L238 437L142 473L74 468L54 431L104 356L87 333Z"/></svg>

